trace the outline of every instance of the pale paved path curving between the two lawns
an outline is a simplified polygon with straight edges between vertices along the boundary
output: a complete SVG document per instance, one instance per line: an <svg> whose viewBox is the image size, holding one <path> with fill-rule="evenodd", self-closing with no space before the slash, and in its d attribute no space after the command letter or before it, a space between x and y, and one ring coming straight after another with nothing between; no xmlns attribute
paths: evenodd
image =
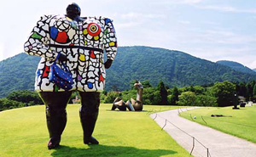
<svg viewBox="0 0 256 157"><path fill-rule="evenodd" d="M183 111L186 111L186 109L183 109ZM181 109L179 109L179 112L181 112ZM177 109L155 113L150 115L150 117L152 119L156 117L154 121L160 127L166 124L164 130L189 153L193 146L192 137L195 137L195 139L208 148L210 152L209 156L211 157L256 157L256 143L250 143L244 139L218 132L210 127L186 120L178 116ZM200 143L195 140L195 149L192 152L195 157L207 156L207 149L201 146Z"/></svg>

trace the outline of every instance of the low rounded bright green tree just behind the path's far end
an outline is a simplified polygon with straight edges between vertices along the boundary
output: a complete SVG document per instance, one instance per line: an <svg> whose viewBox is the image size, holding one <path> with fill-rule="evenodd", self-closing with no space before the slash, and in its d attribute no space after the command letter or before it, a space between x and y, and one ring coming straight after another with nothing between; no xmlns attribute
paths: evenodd
<svg viewBox="0 0 256 157"><path fill-rule="evenodd" d="M178 96L178 105L181 106L195 106L196 105L196 95L192 92L184 92Z"/></svg>

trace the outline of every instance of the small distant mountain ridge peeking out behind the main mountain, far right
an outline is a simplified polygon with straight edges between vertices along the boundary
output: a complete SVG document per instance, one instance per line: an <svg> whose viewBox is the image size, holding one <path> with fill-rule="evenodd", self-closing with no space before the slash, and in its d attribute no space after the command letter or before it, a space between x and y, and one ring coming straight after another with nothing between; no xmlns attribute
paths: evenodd
<svg viewBox="0 0 256 157"><path fill-rule="evenodd" d="M243 64L233 62L233 61L228 61L228 60L219 60L216 62L217 64L223 64L225 66L229 66L233 70L238 70L243 73L251 74L251 75L256 75L256 72L254 70L251 70L247 66L244 66Z"/></svg>

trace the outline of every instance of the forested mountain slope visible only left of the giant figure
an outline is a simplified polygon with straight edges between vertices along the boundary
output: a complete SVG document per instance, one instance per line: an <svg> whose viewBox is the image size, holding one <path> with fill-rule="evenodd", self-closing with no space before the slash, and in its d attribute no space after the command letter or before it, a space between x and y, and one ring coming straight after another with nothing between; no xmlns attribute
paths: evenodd
<svg viewBox="0 0 256 157"><path fill-rule="evenodd" d="M40 58L20 53L0 62L0 98L20 89L33 90Z"/></svg>

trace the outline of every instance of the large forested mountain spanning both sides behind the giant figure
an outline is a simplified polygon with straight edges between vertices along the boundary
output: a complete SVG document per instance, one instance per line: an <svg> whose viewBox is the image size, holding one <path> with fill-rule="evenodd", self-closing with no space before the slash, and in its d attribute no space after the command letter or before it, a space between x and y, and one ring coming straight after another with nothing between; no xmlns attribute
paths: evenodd
<svg viewBox="0 0 256 157"><path fill-rule="evenodd" d="M1 61L0 98L15 90L33 90L39 59L20 53ZM148 80L154 87L160 80L169 87L186 87L226 80L251 81L256 80L256 76L179 51L139 46L119 47L116 59L107 70L106 90L130 89L134 79Z"/></svg>

